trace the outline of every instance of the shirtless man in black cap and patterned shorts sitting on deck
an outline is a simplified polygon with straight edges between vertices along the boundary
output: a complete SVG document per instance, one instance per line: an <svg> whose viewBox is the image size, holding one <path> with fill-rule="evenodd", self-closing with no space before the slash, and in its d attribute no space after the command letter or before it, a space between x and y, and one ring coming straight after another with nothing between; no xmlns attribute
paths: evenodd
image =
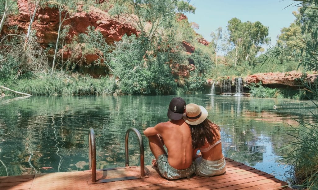
<svg viewBox="0 0 318 190"><path fill-rule="evenodd" d="M182 98L173 98L168 109L171 121L159 123L143 132L149 139L150 150L156 158L159 172L171 180L189 177L195 169L192 164L191 130L182 118L185 105ZM168 155L163 145L166 145Z"/></svg>

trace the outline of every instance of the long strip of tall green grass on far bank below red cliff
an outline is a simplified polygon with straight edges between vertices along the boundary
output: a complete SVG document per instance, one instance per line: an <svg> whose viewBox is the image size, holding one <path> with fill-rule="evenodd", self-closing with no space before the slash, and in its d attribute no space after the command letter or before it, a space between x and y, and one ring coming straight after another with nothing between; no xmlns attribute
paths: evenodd
<svg viewBox="0 0 318 190"><path fill-rule="evenodd" d="M114 79L101 77L94 79L90 76L63 73L36 74L31 78L0 81L12 90L31 95L113 95L116 91Z"/></svg>

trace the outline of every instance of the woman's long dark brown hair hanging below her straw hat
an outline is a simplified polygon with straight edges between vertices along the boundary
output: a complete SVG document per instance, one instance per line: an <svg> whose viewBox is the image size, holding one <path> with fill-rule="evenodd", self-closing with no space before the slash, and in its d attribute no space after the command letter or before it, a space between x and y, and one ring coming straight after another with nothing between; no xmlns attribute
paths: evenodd
<svg viewBox="0 0 318 190"><path fill-rule="evenodd" d="M205 144L205 139L208 143L212 143L216 140L217 131L221 130L217 124L212 123L206 118L202 123L197 125L190 125L192 146L194 149L199 149Z"/></svg>

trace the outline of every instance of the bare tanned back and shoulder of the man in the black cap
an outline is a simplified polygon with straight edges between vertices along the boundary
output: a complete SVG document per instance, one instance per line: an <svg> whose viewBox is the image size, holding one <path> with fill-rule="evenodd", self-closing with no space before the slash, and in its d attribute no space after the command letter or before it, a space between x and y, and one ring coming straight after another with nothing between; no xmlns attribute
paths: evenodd
<svg viewBox="0 0 318 190"><path fill-rule="evenodd" d="M192 164L193 153L189 125L183 119L177 121L171 120L146 129L144 134L150 136L150 134L152 135L155 132L162 136L164 144L167 147L170 166L176 169L189 168Z"/></svg>

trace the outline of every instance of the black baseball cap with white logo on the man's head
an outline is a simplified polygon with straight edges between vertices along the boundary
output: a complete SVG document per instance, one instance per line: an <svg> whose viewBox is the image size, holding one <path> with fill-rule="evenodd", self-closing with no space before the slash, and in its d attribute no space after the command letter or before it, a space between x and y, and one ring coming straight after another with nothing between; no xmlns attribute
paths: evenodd
<svg viewBox="0 0 318 190"><path fill-rule="evenodd" d="M173 120L179 120L183 117L185 110L185 101L183 98L176 97L172 98L168 109L168 118Z"/></svg>

